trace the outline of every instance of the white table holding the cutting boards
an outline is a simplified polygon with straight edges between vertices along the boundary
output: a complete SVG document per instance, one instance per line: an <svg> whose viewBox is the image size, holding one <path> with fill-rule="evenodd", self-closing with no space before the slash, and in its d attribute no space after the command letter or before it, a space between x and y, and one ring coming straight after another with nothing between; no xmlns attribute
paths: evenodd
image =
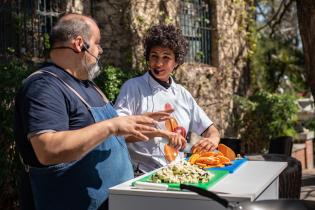
<svg viewBox="0 0 315 210"><path fill-rule="evenodd" d="M278 199L279 175L286 166L286 162L247 161L208 190L230 202ZM110 188L110 210L225 209L214 200L193 192L142 190L130 186L140 178Z"/></svg>

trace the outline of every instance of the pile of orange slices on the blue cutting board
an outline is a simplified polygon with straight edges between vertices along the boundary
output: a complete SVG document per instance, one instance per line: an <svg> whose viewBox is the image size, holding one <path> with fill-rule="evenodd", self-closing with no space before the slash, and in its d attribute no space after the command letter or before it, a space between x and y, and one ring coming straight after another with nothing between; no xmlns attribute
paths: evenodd
<svg viewBox="0 0 315 210"><path fill-rule="evenodd" d="M231 165L235 157L235 153L231 148L224 144L219 144L217 151L193 153L189 158L189 162L207 169Z"/></svg>

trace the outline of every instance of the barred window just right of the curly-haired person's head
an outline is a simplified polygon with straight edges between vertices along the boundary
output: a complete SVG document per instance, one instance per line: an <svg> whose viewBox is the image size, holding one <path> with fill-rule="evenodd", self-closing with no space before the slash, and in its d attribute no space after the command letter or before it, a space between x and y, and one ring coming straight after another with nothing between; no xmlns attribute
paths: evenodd
<svg viewBox="0 0 315 210"><path fill-rule="evenodd" d="M210 5L206 0L182 0L180 24L189 43L186 62L211 63Z"/></svg>

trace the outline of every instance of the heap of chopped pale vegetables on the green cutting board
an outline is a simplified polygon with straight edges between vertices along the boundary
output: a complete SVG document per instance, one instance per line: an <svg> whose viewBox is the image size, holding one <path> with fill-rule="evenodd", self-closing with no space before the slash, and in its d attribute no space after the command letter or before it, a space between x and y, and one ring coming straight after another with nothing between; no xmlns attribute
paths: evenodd
<svg viewBox="0 0 315 210"><path fill-rule="evenodd" d="M214 177L214 174L191 165L185 160L167 165L165 168L154 173L149 182L153 183L207 183Z"/></svg>

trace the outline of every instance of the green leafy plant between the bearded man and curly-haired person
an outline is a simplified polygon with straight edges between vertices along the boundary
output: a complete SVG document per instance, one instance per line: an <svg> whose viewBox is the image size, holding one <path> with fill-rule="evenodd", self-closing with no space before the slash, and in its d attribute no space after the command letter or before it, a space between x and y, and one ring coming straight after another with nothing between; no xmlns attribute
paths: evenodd
<svg viewBox="0 0 315 210"><path fill-rule="evenodd" d="M110 101L115 101L121 85L128 79L139 75L136 71L123 71L113 66L105 67L95 83L101 88Z"/></svg>

